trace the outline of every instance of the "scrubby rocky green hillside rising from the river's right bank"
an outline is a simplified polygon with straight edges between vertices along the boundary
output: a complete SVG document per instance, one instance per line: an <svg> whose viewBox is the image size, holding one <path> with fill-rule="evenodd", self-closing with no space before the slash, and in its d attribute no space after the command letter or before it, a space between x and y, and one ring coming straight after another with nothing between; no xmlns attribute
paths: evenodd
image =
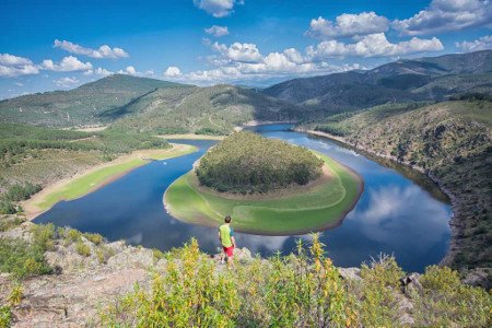
<svg viewBox="0 0 492 328"><path fill-rule="evenodd" d="M417 166L452 196L448 262L492 267L492 102L456 101L422 107L378 106L316 127L347 142Z"/></svg>

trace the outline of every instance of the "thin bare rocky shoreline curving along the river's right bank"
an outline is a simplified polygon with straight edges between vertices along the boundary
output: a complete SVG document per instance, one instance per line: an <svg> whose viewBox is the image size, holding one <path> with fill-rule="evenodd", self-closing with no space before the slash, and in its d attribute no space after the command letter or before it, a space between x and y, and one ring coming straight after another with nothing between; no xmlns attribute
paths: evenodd
<svg viewBox="0 0 492 328"><path fill-rule="evenodd" d="M457 243L455 239L455 236L458 235L459 233L461 233L461 230L459 229L460 226L460 220L464 219L461 218L461 213L460 213L460 199L458 197L456 197L452 190L449 190L448 188L446 188L443 183L441 181L441 179L438 179L436 176L434 176L431 172L425 171L424 168L418 166L418 165L413 165L411 163L408 163L406 161L400 161L398 159L396 159L395 156L389 156L389 155L384 155L384 154L379 154L376 153L374 151L364 149L362 147L359 147L358 144L354 144L352 142L349 142L345 138L343 137L338 137L338 136L333 136L327 132L321 132L321 131L315 131L315 130L305 130L305 129L295 129L295 131L297 132L303 132L303 133L307 133L307 134L313 134L313 136L317 136L317 137L324 137L327 139L331 139L344 144L348 144L350 147L353 147L354 149L367 152L376 157L380 157L380 159L386 159L386 160L390 160L394 161L398 164L402 164L406 165L412 169L415 169L422 174L424 174L427 178L430 178L432 181L434 181L438 188L441 189L441 191L443 194L445 194L448 198L449 198L449 202L450 202L450 208L452 208L452 215L449 218L448 224L449 224L449 230L450 230L450 238L449 238L449 246L448 249L446 251L446 255L441 259L440 265L444 265L447 266L452 262L453 257L455 256L455 254L457 253ZM458 247L459 248L459 247Z"/></svg>

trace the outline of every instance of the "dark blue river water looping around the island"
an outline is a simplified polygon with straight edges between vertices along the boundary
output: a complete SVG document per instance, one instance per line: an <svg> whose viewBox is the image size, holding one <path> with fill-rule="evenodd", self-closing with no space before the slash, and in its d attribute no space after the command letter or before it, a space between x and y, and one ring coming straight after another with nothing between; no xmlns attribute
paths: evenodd
<svg viewBox="0 0 492 328"><path fill-rule="evenodd" d="M383 253L395 255L407 271L422 271L444 257L449 245L452 211L442 195L422 187L429 186L429 180L421 183L421 176L410 179L336 142L288 131L289 127L261 126L255 130L328 154L364 179L364 192L355 208L339 226L321 232L321 242L336 265L359 266ZM85 197L57 203L35 222L72 226L99 233L109 241L125 239L162 250L181 246L194 236L203 251L216 251L215 229L177 221L165 212L162 202L167 187L191 169L192 163L214 141L177 142L200 150L183 157L151 162ZM262 256L277 250L289 254L300 237L309 238L236 234L239 247Z"/></svg>

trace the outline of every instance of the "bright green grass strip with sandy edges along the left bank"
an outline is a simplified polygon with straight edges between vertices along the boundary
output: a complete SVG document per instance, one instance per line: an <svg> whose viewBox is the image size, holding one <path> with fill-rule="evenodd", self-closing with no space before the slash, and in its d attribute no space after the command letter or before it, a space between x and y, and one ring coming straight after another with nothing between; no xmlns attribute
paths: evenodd
<svg viewBox="0 0 492 328"><path fill-rule="evenodd" d="M130 155L119 157L104 166L96 167L68 181L60 181L48 187L28 200L24 207L28 212L40 212L49 209L60 200L71 200L82 197L128 173L149 163L143 157L165 160L192 153L198 149L188 144L173 144L172 149L136 151Z"/></svg>

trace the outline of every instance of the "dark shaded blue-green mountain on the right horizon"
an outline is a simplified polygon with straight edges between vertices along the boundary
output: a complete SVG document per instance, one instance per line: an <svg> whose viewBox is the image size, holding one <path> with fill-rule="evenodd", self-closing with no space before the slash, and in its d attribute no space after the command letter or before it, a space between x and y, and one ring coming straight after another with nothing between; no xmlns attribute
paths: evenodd
<svg viewBox="0 0 492 328"><path fill-rule="evenodd" d="M265 94L336 113L388 102L443 101L492 86L492 50L398 60L368 71L294 79Z"/></svg>

